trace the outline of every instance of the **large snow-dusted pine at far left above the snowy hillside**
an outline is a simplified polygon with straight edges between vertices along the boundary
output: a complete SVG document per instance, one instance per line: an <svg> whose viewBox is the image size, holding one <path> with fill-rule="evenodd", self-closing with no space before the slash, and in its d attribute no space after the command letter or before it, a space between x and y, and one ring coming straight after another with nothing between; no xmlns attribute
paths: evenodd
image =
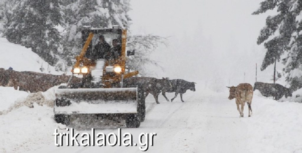
<svg viewBox="0 0 302 153"><path fill-rule="evenodd" d="M63 23L59 0L16 0L4 35L8 41L31 47L50 65L57 62L60 35L56 26ZM6 16L8 17L8 16Z"/></svg>

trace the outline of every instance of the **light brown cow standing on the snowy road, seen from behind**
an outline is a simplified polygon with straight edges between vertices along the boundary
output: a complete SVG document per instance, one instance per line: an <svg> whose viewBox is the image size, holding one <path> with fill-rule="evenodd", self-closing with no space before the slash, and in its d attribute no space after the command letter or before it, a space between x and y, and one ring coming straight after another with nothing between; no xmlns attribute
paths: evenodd
<svg viewBox="0 0 302 153"><path fill-rule="evenodd" d="M245 103L247 103L247 105L249 106L249 117L251 117L253 86L248 83L241 83L237 87L232 86L228 88L230 88L229 99L231 100L236 98L237 110L240 114L240 117L243 117L243 107ZM241 110L239 109L239 105L241 105Z"/></svg>

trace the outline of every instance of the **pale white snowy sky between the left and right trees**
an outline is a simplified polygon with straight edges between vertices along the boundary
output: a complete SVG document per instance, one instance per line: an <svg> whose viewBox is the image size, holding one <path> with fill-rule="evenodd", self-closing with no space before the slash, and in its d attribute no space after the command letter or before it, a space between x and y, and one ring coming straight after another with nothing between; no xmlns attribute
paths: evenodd
<svg viewBox="0 0 302 153"><path fill-rule="evenodd" d="M261 0L131 0L130 29L134 34L171 36L169 47L159 47L151 57L165 72L157 77L189 81L221 80L237 85L267 81L273 73L260 72L265 50L256 44L265 19L273 12L251 15ZM280 68L281 69L281 68ZM246 78L244 79L244 72Z"/></svg>

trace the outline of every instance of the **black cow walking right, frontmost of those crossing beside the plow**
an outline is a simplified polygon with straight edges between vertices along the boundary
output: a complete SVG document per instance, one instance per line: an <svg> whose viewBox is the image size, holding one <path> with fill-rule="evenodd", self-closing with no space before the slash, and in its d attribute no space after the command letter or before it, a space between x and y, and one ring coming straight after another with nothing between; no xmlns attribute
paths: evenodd
<svg viewBox="0 0 302 153"><path fill-rule="evenodd" d="M162 91L162 95L167 101L169 101L169 99L166 97L165 92L175 92L175 96L171 99L172 102L177 97L178 93L180 94L180 99L182 100L182 94L185 93L187 90L195 91L195 82L188 82L182 79L169 80L169 82L171 86L169 88L166 88L166 90ZM182 100L182 102L184 102L184 100Z"/></svg>

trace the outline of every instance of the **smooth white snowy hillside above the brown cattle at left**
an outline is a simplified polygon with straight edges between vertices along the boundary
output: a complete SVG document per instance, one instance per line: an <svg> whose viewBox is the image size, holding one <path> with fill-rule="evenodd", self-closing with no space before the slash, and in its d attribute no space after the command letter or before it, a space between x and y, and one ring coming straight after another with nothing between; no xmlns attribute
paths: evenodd
<svg viewBox="0 0 302 153"><path fill-rule="evenodd" d="M33 71L61 75L53 66L41 59L31 48L10 43L6 38L0 38L0 68L12 67L15 71ZM43 71L40 69L43 68Z"/></svg>

